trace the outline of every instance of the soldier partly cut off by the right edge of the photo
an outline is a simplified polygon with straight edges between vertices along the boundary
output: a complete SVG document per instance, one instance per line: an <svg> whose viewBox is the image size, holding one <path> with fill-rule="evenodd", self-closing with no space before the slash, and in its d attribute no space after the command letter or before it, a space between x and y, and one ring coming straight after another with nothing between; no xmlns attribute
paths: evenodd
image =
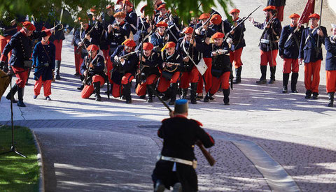
<svg viewBox="0 0 336 192"><path fill-rule="evenodd" d="M331 24L331 36L325 38L325 72L327 80L327 93L329 96L328 107L334 106L334 94L336 90L336 24Z"/></svg>

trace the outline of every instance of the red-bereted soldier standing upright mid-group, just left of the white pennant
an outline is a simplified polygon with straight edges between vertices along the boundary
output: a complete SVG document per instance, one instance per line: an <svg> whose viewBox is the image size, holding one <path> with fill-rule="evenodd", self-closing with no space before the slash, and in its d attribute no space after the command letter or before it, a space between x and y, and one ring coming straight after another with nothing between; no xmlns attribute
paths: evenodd
<svg viewBox="0 0 336 192"><path fill-rule="evenodd" d="M182 88L182 98L187 98L189 83L190 86L190 101L192 104L196 104L196 92L197 92L197 82L199 78L199 71L197 70L195 64L200 62L202 59L202 54L200 52L202 45L196 43L195 38L193 38L193 28L186 27L183 30L185 36L180 38L176 50L183 56L183 63L181 65L181 88ZM193 61L192 61L193 59ZM194 64L195 62L195 64Z"/></svg>

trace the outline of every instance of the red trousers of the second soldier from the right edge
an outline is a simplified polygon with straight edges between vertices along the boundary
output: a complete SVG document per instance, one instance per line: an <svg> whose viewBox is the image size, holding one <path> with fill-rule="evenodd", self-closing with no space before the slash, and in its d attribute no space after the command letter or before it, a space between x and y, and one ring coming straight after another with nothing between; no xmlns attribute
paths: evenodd
<svg viewBox="0 0 336 192"><path fill-rule="evenodd" d="M304 63L304 87L313 93L318 93L320 84L321 60Z"/></svg>

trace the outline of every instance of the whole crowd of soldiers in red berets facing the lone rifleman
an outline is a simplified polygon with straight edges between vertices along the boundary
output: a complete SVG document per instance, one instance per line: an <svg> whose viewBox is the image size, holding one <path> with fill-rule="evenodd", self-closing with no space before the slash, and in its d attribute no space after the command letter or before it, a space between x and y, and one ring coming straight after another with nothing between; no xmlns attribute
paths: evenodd
<svg viewBox="0 0 336 192"><path fill-rule="evenodd" d="M232 9L231 18L225 20L216 10L211 10L210 13L203 13L198 18L193 17L189 24L181 24L174 10L167 10L162 1L155 1L153 15L145 15L146 6L144 6L141 8L141 15L138 16L129 0L118 0L116 7L118 8L106 6L104 14L92 8L90 17L78 17L75 21L78 27L73 26L75 75L79 75L83 82L83 85L78 87L82 90L82 98L94 94L95 100L101 101L100 87L107 83L108 96L111 94L125 99L126 103L132 103L131 82L135 79L136 94L140 98L146 98L147 94L148 103L153 102L153 97L158 94L164 101L169 100L169 105L174 105L176 95L187 98L190 89L188 97L190 103L196 104L197 99L209 102L214 100L214 94L223 91L223 102L229 105L230 82L231 89L232 84L241 82L243 65L241 52L246 46L245 18L239 17L239 9ZM290 25L282 28L280 20L276 17L276 7L267 6L263 11L265 20L261 23L256 22L253 17L248 17L255 27L263 30L259 45L261 77L256 83L267 83L267 64L270 71L268 83L274 83L276 57L279 53L283 59L283 93L288 92L290 72L292 72L290 88L293 93L297 93L298 66L304 62L304 84L307 89L305 98L317 99L322 60L321 45L328 41L327 45L330 48L327 47L326 70L333 71L334 35L328 38L325 27L318 25L319 15L316 13L309 16L311 25L307 28L297 22L300 15L295 13L289 16ZM15 70L16 67L20 67L18 63L28 60L30 58L28 52L31 52L30 48L25 50L30 44L24 45L24 42L19 42L21 47L24 47L22 49L27 51L27 55L25 52L21 55L20 45L10 43L11 39L15 41L14 37L17 36L18 30L20 33L20 30L27 29L23 26L22 29L15 30L19 26L18 22L20 21L11 23L9 27L1 25L6 31L0 41L1 66L5 70L9 66L13 72L18 72ZM34 36L29 36L30 41L41 38L41 35L37 34L43 29L55 28L48 25L48 22L34 20L31 24L34 26ZM334 28L335 26L332 26L332 30ZM67 29L71 30L71 27ZM62 60L62 40L64 30L56 30L50 37L50 42L55 45L55 56L52 58L55 64L49 65L49 71L52 73L55 71L56 80L61 78L59 68ZM15 52L14 57L13 54L10 56L12 49ZM232 66L235 66L235 79ZM330 74L327 75L327 91L330 97L329 105L332 106L335 92L335 80L332 80L335 75L331 72L327 74ZM16 75L20 78L13 87L11 95L17 90L19 93L22 92L20 88L25 87L23 82L27 81L29 73ZM38 78L36 77L36 80ZM47 79L50 78L52 79L52 75L48 75ZM46 80L44 76L43 80ZM50 87L48 83L47 87ZM204 89L205 96L203 96ZM37 90L34 98L38 94ZM45 97L47 96L49 95L45 94ZM10 95L8 94L6 98L9 99ZM22 100L23 98L19 96L19 101ZM22 102L19 105L22 105Z"/></svg>

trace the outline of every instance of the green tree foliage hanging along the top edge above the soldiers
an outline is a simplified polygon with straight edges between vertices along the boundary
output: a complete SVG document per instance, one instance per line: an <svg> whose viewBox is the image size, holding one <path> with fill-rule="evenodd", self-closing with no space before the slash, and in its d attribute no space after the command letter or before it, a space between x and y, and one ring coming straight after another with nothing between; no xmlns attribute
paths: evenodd
<svg viewBox="0 0 336 192"><path fill-rule="evenodd" d="M115 0L116 1L116 0ZM69 10L73 18L86 14L87 10L95 7L96 10L104 10L107 5L115 1L109 0L0 0L1 20L6 17L17 17L18 15L34 15L38 17L50 17L57 20L62 8ZM131 0L134 6L138 6L141 0ZM156 0L146 0L148 7L146 13L153 13L153 3ZM228 6L233 6L231 0L216 0L221 7L217 10L223 10L228 16ZM173 14L179 15L182 20L190 20L190 17L199 16L201 12L209 12L211 8L216 7L214 0L166 0L167 7L172 10ZM200 6L202 4L202 6ZM200 6L200 8L199 8ZM202 11L200 10L202 9ZM59 17L58 17L59 20Z"/></svg>

